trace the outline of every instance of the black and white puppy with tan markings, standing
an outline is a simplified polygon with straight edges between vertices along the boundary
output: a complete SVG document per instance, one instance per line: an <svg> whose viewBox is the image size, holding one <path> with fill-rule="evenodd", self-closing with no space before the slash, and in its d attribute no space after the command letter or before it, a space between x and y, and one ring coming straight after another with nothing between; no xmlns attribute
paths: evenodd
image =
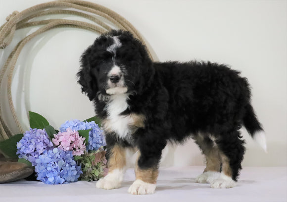
<svg viewBox="0 0 287 202"><path fill-rule="evenodd" d="M196 182L212 188L235 186L245 151L242 126L266 150L247 79L226 65L152 62L131 33L113 30L83 53L78 78L95 102L107 143L109 171L97 188L120 187L127 149L139 153L131 194L154 193L169 141L195 140L206 157Z"/></svg>

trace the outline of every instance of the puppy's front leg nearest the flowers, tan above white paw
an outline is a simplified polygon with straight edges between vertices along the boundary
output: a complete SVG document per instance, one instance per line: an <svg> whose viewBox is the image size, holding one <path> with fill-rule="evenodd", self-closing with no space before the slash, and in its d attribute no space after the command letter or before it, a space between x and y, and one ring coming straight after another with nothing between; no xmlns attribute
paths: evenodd
<svg viewBox="0 0 287 202"><path fill-rule="evenodd" d="M126 171L126 151L119 145L108 148L108 174L99 179L96 188L100 189L116 189L121 186L124 173Z"/></svg>

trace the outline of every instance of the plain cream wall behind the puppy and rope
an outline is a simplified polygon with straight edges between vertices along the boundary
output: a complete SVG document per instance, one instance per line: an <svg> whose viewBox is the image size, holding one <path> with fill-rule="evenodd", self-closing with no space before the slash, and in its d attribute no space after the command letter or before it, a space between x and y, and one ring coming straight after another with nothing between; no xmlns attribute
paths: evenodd
<svg viewBox="0 0 287 202"><path fill-rule="evenodd" d="M46 1L0 0L0 24L14 10ZM242 129L247 142L243 165L287 165L286 0L91 1L129 20L160 61L210 60L241 71L252 86L252 104L266 131L268 147L265 154ZM25 31L17 32L15 38L23 38ZM67 119L93 116L93 104L81 94L75 74L81 53L96 36L83 30L57 29L37 37L24 48L12 85L13 101L22 124L28 127L28 110L41 113L56 127ZM11 46L0 50L1 65L9 50ZM24 77L19 77L23 74ZM18 82L19 78L24 78L24 86ZM6 102L0 99L6 107ZM13 127L8 108L4 114ZM203 163L192 141L169 148L164 156L163 165Z"/></svg>

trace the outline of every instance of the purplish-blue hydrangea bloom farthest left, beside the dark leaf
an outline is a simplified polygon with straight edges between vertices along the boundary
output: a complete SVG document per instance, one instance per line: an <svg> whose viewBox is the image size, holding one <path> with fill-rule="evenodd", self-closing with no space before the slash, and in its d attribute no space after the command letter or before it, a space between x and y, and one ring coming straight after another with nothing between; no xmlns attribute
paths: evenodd
<svg viewBox="0 0 287 202"><path fill-rule="evenodd" d="M24 133L23 138L17 143L19 158L24 158L36 165L35 159L45 150L53 148L53 143L48 138L45 129L30 129Z"/></svg>

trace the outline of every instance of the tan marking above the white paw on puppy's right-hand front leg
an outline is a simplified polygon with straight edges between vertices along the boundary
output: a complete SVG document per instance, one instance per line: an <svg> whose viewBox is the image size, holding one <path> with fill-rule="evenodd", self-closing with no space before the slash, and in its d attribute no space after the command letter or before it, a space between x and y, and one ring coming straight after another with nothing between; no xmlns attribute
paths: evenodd
<svg viewBox="0 0 287 202"><path fill-rule="evenodd" d="M141 153L139 151L138 159L140 155ZM137 164L135 168L135 174L137 180L143 180L146 183L156 184L156 180L158 177L158 169L157 168L141 169Z"/></svg>

